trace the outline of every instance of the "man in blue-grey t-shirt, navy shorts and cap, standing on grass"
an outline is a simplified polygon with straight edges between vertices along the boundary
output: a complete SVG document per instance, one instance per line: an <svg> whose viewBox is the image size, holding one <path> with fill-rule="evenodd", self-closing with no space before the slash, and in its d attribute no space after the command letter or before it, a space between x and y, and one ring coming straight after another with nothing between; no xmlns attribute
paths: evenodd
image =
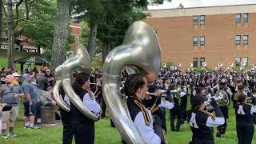
<svg viewBox="0 0 256 144"><path fill-rule="evenodd" d="M25 98L23 100L24 105L24 116L25 119L25 127L31 129L38 129L37 126L34 126L34 116L36 114L35 103L38 102L38 95L37 91L34 88L33 84L31 83L31 76L30 74L24 74L23 77L24 82L22 83L22 89L25 94Z"/></svg>

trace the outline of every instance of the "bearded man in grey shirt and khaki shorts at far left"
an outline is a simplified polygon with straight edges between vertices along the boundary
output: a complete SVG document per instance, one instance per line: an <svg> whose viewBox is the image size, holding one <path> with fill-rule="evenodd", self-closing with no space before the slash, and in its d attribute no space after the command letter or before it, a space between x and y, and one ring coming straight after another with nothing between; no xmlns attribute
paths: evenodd
<svg viewBox="0 0 256 144"><path fill-rule="evenodd" d="M9 135L17 136L14 134L14 122L18 117L18 98L22 97L22 88L18 85L14 85L14 76L6 76L6 85L2 86L0 92L0 103L6 103L13 108L10 111L5 111L2 114L2 138L8 138L6 134L7 122L9 124Z"/></svg>

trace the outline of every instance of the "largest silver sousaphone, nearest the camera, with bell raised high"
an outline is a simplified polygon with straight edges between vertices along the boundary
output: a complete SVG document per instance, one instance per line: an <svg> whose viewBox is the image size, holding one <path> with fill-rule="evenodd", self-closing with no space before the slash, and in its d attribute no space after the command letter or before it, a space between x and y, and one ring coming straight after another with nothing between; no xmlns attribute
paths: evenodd
<svg viewBox="0 0 256 144"><path fill-rule="evenodd" d="M144 143L126 106L126 98L120 93L121 70L128 73L147 74L148 82L154 82L161 66L160 46L152 27L145 22L134 22L126 31L122 46L108 54L102 73L102 91L111 118L127 143Z"/></svg>

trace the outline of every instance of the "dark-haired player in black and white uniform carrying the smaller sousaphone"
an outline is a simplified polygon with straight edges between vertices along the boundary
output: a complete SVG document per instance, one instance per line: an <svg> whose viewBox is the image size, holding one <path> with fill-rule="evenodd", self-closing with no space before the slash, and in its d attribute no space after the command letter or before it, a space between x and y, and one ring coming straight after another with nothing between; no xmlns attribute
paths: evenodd
<svg viewBox="0 0 256 144"><path fill-rule="evenodd" d="M81 98L83 104L87 109L92 111L95 115L100 114L100 106L94 98L93 92L90 88L90 75L80 73L76 76L73 84L73 88L79 98ZM87 118L82 114L72 103L70 103L70 112L72 114L71 126L74 130L74 139L77 144L93 144L94 143L94 121Z"/></svg>

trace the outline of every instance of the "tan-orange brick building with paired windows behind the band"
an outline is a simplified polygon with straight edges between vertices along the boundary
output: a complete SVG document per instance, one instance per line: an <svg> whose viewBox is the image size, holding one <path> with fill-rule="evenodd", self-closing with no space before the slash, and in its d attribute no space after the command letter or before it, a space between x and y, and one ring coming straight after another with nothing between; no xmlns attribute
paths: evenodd
<svg viewBox="0 0 256 144"><path fill-rule="evenodd" d="M190 63L226 69L256 64L256 5L212 6L149 10L150 24L158 34L162 62Z"/></svg>

